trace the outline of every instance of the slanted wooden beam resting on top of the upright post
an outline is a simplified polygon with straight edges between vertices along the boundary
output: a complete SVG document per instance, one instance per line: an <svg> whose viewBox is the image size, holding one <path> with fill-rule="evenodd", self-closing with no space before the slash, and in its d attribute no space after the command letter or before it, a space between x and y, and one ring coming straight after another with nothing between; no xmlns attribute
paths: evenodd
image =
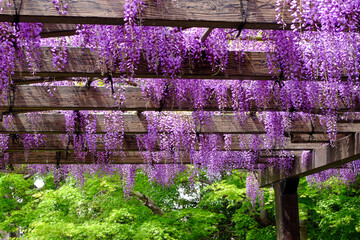
<svg viewBox="0 0 360 240"><path fill-rule="evenodd" d="M260 186L266 187L274 182L289 178L305 177L345 163L360 159L360 133L353 133L337 140L334 147L330 145L314 149L312 160L304 166L301 159L296 159L289 173L268 168L265 174L260 174Z"/></svg>

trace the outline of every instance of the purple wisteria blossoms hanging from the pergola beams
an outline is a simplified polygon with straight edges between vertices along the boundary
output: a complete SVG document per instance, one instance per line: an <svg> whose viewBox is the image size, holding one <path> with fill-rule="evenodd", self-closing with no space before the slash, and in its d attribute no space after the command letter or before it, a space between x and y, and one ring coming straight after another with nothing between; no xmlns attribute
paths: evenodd
<svg viewBox="0 0 360 240"><path fill-rule="evenodd" d="M67 14L66 1L53 1L59 14ZM161 4L161 3L160 3ZM137 169L133 165L111 165L112 156L125 158L125 115L133 114L147 121L147 134L136 136L144 160L140 168L149 179L162 185L172 184L174 177L191 163L191 179L204 171L210 180L232 169L249 171L274 166L289 171L294 153L284 151L288 136L298 123L321 126L330 143L337 139L337 122L359 120L349 113L360 106L360 3L359 1L277 1L277 20L281 30L208 29L150 27L142 25L145 4L128 0L124 6L123 26L79 25L77 35L41 39L41 24L0 24L0 98L10 101L15 71L25 66L36 75L40 68L40 49L50 47L53 68L66 69L68 49L81 47L94 52L98 59L99 79L72 78L50 84L106 86L118 99L119 111L62 111L66 134L62 141L66 152L73 152L77 166L32 166L34 171L54 171L56 178L72 173L79 182L85 173L118 173L130 194ZM285 15L292 21L286 22ZM289 26L287 26L289 25ZM285 30L289 29L290 30ZM236 63L239 74L247 60L247 51L265 52L268 60L267 80L227 78L229 63ZM233 59L230 59L230 56ZM186 79L199 67L208 69L223 80ZM184 70L185 69L185 70ZM137 79L144 70L158 77ZM184 72L188 71L188 73ZM113 77L115 74L121 77ZM125 85L141 87L144 98L159 107L156 111L122 112ZM116 90L116 91L115 91ZM49 91L52 93L52 90ZM192 112L169 112L176 105ZM213 111L213 112L211 112ZM4 125L11 128L11 112ZM240 127L256 122L264 126L262 135L213 134L214 116L231 115ZM37 114L28 114L35 134L0 135L2 163L13 159L7 152L9 142L22 142L25 156L46 145L45 136L36 131ZM104 116L105 132L97 132L99 116ZM204 131L206 130L206 131ZM313 129L315 131L315 129ZM309 137L311 137L310 134ZM236 150L234 150L236 149ZM276 156L276 157L272 157ZM91 159L91 161L89 161ZM266 160L263 160L266 159ZM302 153L302 163L311 163L309 152ZM92 165L85 165L91 163ZM165 164L160 164L165 163ZM328 170L310 177L323 181L336 176L352 181L359 164ZM315 180L314 180L315 179ZM247 179L247 195L261 198L254 175Z"/></svg>

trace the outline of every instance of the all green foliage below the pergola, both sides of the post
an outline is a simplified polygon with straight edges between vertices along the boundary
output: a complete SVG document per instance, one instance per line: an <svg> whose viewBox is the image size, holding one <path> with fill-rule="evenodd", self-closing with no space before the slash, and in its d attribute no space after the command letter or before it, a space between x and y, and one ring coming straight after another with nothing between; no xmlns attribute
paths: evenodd
<svg viewBox="0 0 360 240"><path fill-rule="evenodd" d="M21 174L0 175L0 229L24 239L276 239L274 194L264 202L246 199L246 174L234 172L194 193L180 176L171 187L150 183L138 173L134 191L153 199L165 212L155 215L136 197L124 197L119 176L87 176L79 188L68 178L55 188L51 175L42 189ZM330 180L323 188L299 186L300 220L309 239L360 239L360 181L346 186ZM181 191L180 191L181 190ZM196 191L195 191L196 192Z"/></svg>

